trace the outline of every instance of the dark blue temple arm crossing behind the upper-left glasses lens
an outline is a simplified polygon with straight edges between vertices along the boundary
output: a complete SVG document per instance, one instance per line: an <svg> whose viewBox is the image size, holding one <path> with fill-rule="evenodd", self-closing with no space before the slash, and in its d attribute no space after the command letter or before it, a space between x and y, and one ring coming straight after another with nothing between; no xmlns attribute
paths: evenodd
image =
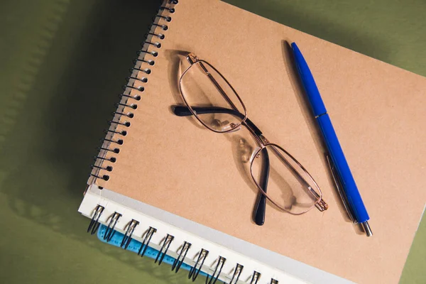
<svg viewBox="0 0 426 284"><path fill-rule="evenodd" d="M233 116L239 117L240 119L244 119L244 114L236 111L234 109L226 109L224 107L192 107L192 110L197 114L231 114ZM192 116L192 112L188 107L175 106L173 107L173 113L177 116ZM258 129L258 127L253 124L250 119L246 119L246 124L249 126L257 136L262 135L262 131Z"/></svg>

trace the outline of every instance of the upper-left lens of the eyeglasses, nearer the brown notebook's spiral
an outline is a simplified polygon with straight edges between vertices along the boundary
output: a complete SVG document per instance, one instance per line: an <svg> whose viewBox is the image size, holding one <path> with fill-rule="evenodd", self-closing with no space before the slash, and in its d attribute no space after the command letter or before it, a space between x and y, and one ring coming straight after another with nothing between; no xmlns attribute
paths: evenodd
<svg viewBox="0 0 426 284"><path fill-rule="evenodd" d="M212 131L231 131L245 119L243 104L234 89L205 61L195 62L182 75L180 91L187 107Z"/></svg>

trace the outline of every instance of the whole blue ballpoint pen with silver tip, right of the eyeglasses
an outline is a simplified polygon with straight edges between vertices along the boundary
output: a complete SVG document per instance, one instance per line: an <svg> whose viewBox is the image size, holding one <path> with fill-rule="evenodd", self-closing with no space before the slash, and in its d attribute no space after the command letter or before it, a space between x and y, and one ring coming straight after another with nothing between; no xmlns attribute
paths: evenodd
<svg viewBox="0 0 426 284"><path fill-rule="evenodd" d="M330 170L332 171L334 182L336 183L337 190L344 203L344 207L354 223L361 224L367 236L372 236L370 226L368 225L367 209L362 202L361 195L359 194L358 187L354 177L352 176L349 165L344 158L342 147L337 139L336 132L330 121L327 109L325 109L324 102L322 102L320 92L318 92L317 84L315 84L314 77L307 66L305 58L300 53L299 48L295 43L291 44L293 55L295 58L295 65L302 81L307 99L310 102L312 114L320 126L322 138L327 145L329 155L327 161Z"/></svg>

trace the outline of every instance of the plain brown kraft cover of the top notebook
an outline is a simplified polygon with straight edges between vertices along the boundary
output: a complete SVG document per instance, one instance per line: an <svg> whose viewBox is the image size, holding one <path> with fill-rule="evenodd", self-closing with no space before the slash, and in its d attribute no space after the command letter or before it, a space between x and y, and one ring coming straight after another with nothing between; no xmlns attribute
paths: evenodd
<svg viewBox="0 0 426 284"><path fill-rule="evenodd" d="M282 26L220 1L180 0L157 49L109 181L97 184L180 217L289 256L357 283L397 283L426 200L426 79ZM373 236L344 215L324 146L297 81L285 40L296 42L315 77L370 214ZM155 38L153 38L155 41ZM326 212L293 216L268 206L253 224L256 187L241 161L246 129L218 134L182 105L180 60L207 60L231 82L249 118L269 141L305 165L320 185ZM139 84L139 83L136 83ZM143 84L143 83L141 83ZM121 121L125 121L123 117ZM109 163L104 163L104 166Z"/></svg>

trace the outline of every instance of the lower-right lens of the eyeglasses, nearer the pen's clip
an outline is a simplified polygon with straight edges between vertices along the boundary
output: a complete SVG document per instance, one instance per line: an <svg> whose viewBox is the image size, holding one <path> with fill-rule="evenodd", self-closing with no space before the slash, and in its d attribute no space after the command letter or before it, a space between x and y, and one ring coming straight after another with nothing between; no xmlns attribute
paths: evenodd
<svg viewBox="0 0 426 284"><path fill-rule="evenodd" d="M293 156L274 144L253 156L251 175L273 204L292 214L307 212L322 197L310 174Z"/></svg>

